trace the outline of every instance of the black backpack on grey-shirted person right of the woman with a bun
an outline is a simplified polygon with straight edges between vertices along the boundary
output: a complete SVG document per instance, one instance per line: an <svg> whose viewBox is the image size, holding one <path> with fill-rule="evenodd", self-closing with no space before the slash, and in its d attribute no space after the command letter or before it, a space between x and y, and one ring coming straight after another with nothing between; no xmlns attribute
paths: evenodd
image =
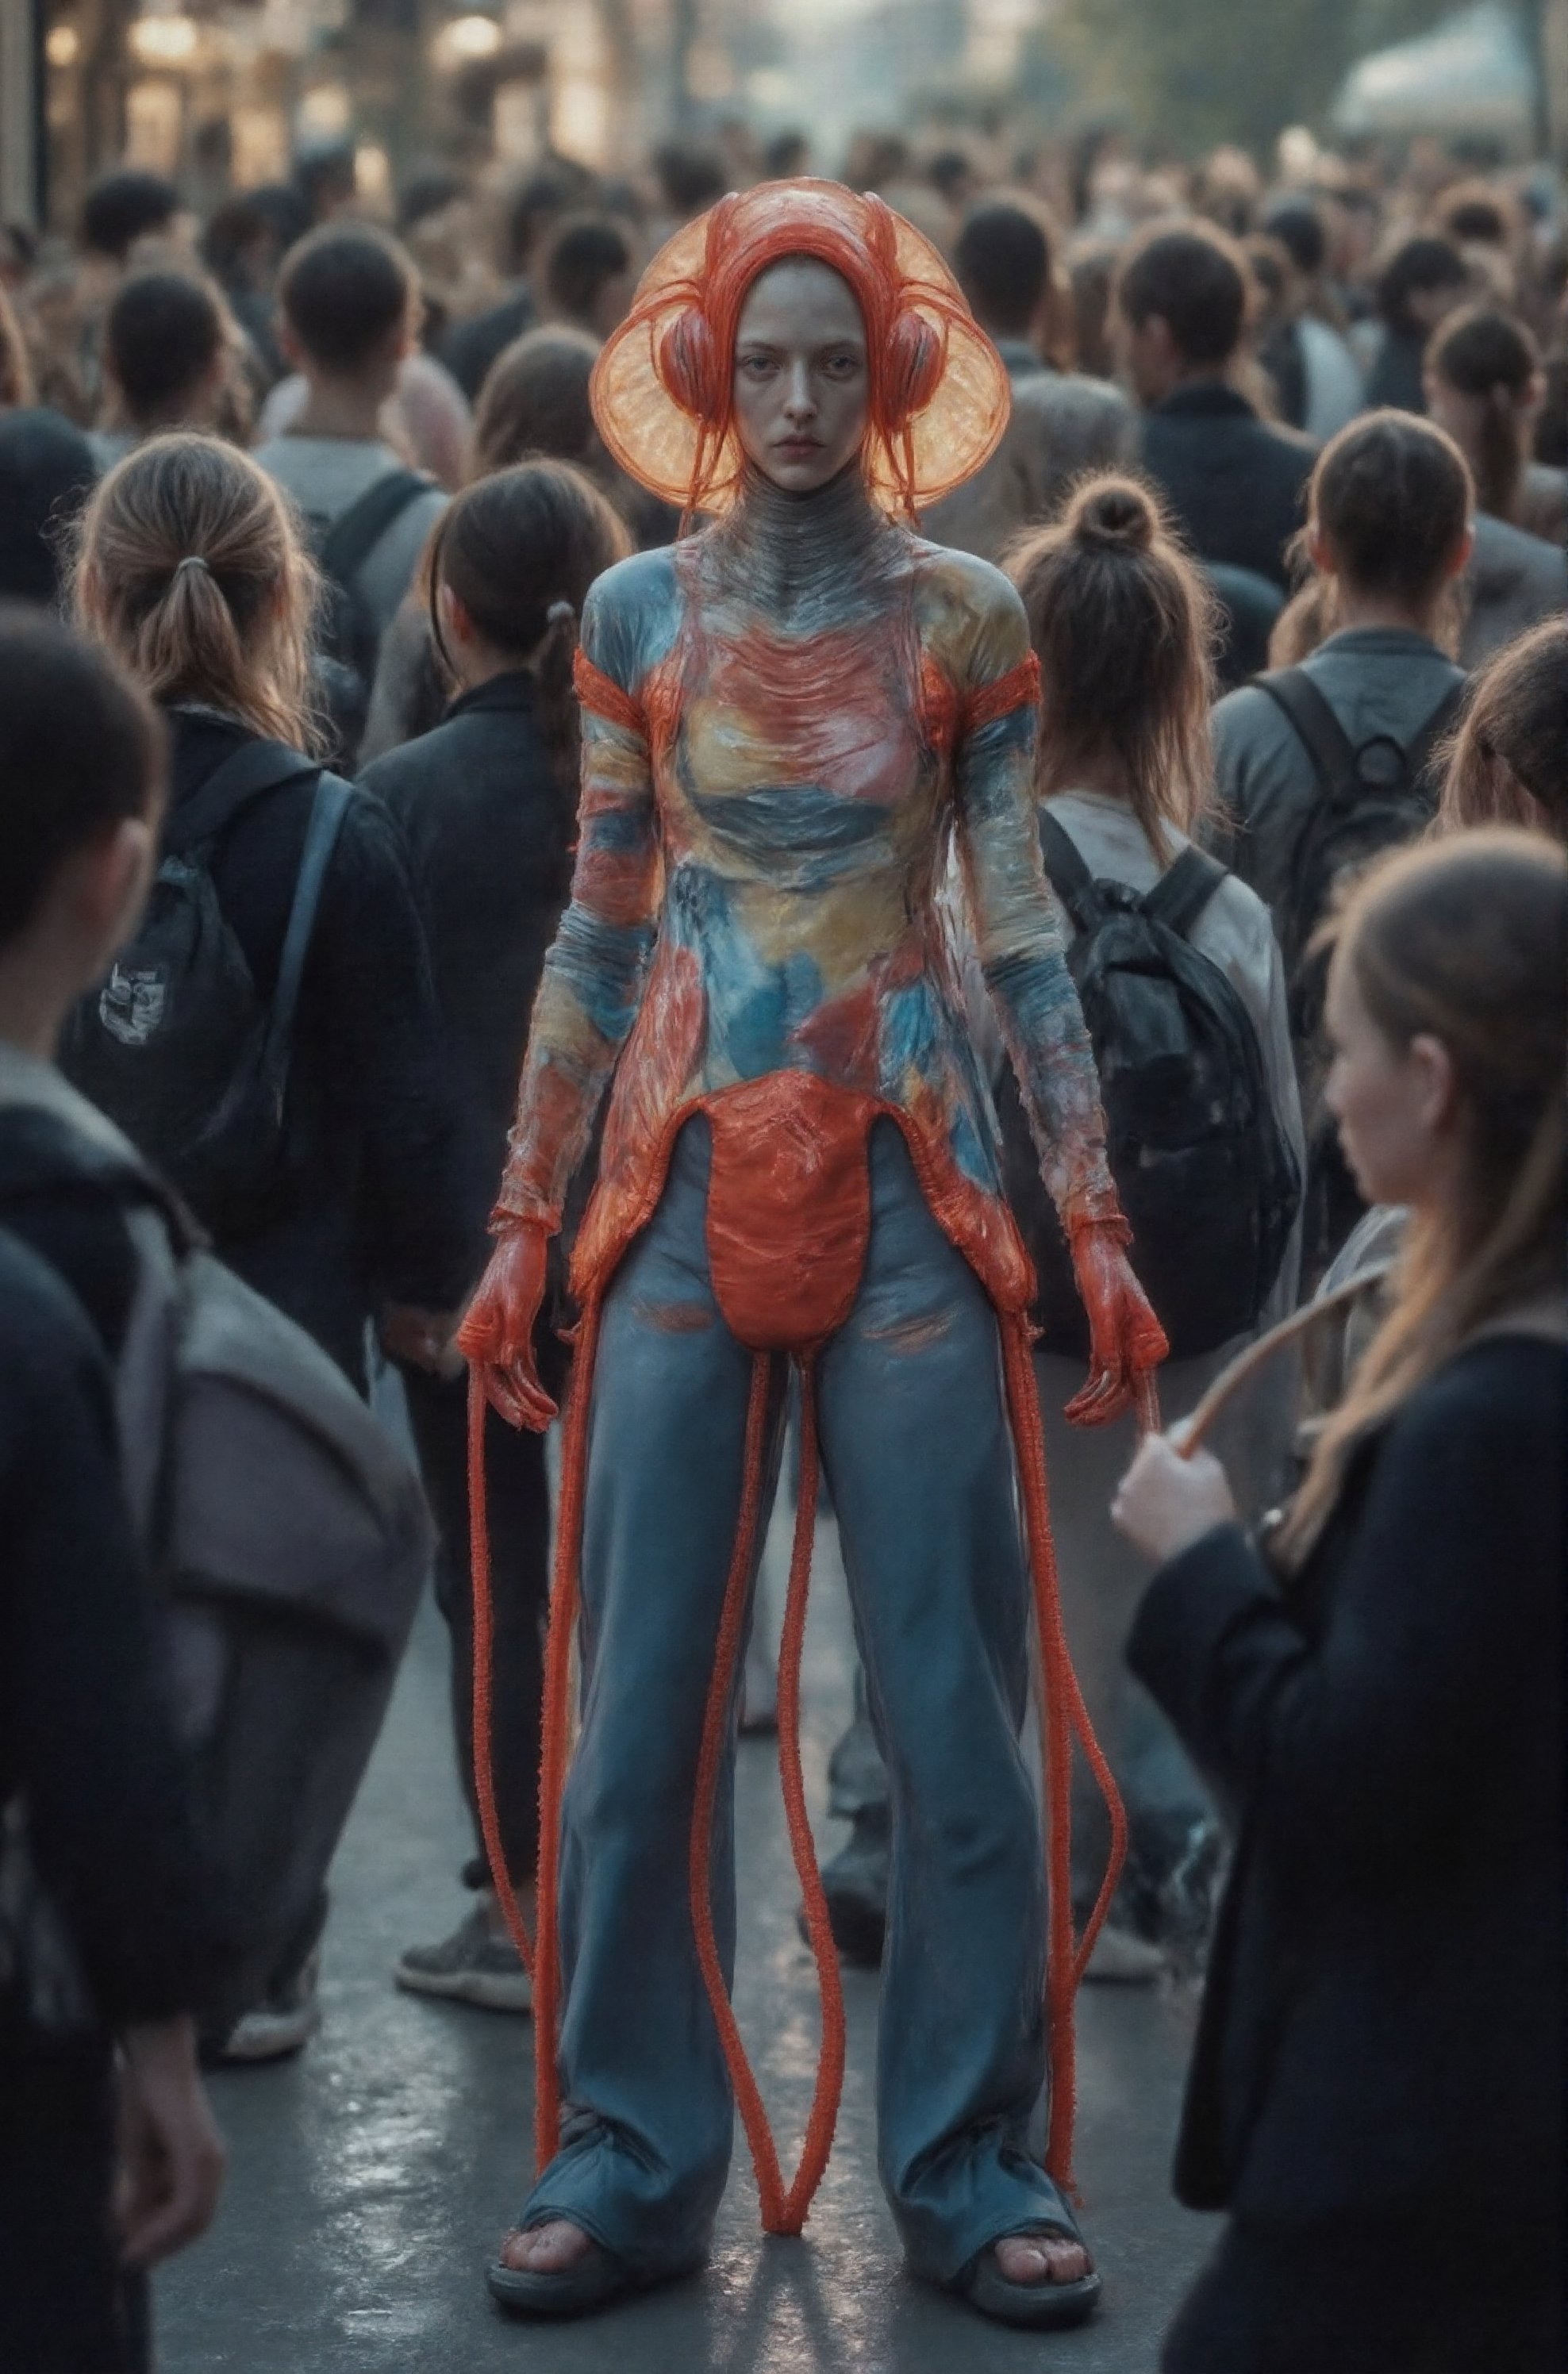
<svg viewBox="0 0 1568 2374"><path fill-rule="evenodd" d="M1323 1018L1326 983L1326 961L1309 954L1311 935L1342 883L1385 850L1416 840L1433 821L1433 750L1454 722L1463 684L1442 696L1409 748L1390 734L1373 734L1357 750L1304 667L1281 667L1254 681L1290 719L1319 779L1319 795L1290 857L1281 933L1290 1030L1297 1045L1307 1045Z"/></svg>

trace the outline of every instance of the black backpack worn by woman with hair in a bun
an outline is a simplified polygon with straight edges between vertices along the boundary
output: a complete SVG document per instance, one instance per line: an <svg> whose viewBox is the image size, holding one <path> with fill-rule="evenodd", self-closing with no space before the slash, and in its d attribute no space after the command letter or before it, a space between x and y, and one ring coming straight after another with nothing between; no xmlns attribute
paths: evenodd
<svg viewBox="0 0 1568 2374"><path fill-rule="evenodd" d="M1226 878L1183 850L1152 890L1095 881L1041 812L1050 886L1076 923L1067 966L1100 1068L1112 1178L1133 1230L1133 1268L1171 1353L1188 1360L1254 1327L1278 1277L1302 1194L1240 997L1190 931ZM1038 1275L1045 1351L1088 1356L1088 1322L1062 1223L1041 1180L1024 1104L998 1094L1003 1178Z"/></svg>

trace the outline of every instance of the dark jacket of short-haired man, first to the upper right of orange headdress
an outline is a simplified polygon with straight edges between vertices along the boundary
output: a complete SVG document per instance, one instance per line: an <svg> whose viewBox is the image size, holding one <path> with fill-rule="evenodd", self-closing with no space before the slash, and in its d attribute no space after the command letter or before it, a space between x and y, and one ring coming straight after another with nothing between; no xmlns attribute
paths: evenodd
<svg viewBox="0 0 1568 2374"><path fill-rule="evenodd" d="M1200 560L1290 584L1285 546L1307 518L1309 437L1271 427L1233 387L1202 380L1143 415L1140 451Z"/></svg>

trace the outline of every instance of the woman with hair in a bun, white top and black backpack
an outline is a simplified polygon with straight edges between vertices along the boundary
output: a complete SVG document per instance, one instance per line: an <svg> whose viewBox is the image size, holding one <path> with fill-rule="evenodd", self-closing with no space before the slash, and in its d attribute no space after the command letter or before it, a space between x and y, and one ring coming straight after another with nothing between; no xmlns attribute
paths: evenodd
<svg viewBox="0 0 1568 2374"><path fill-rule="evenodd" d="M1174 1334L1171 1360L1159 1375L1159 1401L1169 1417L1190 1410L1219 1367L1240 1348L1247 1334L1283 1318L1295 1303L1300 1232L1292 1227L1304 1163L1302 1111L1290 1056L1290 1021L1285 1014L1285 976L1269 909L1243 881L1224 867L1193 852L1193 836L1205 821L1209 800L1209 698L1214 653L1214 598L1202 575L1174 539L1155 491L1133 477L1086 480L1055 527L1026 532L1003 556L1029 615L1029 639L1041 662L1041 741L1036 750L1036 798L1045 864L1057 895L1071 947L1071 964L1095 964L1095 916L1074 893L1064 864L1081 864L1090 876L1088 897L1109 916L1112 933L1126 933L1126 916L1150 914L1166 897L1181 902L1181 883L1193 883L1195 907L1171 907L1176 938L1197 959L1193 976L1200 995L1212 992L1221 1011L1243 1033L1245 1073L1252 1083L1252 1132L1240 1121L1240 1137L1212 1142L1202 1178L1207 1201L1226 1204L1226 1230L1240 1223L1231 1246L1200 1237L1214 1213L1193 1208L1193 1194L1181 1180L1190 1144L1193 1116L1174 1123L1171 1187L1155 1206L1147 1187L1159 1163L1159 1149L1145 1137L1147 1113L1126 1113L1131 1123L1119 1178L1133 1218L1133 1263L1155 1308ZM1109 907L1105 902L1109 900ZM1186 919L1183 919L1186 916ZM1081 947L1083 926L1090 940ZM1157 926L1159 931L1162 926ZM1109 945L1109 942L1100 942ZM1133 966L1159 966L1169 942L1155 940ZM1176 964L1183 959L1176 957ZM1143 980L1145 976L1138 973ZM1171 1011L1181 1007L1183 988L1169 976ZM1233 1004L1231 1004L1233 999ZM1121 1083L1145 1061L1138 1026L1145 999L1131 1004L1095 999L1090 1030L1100 1078ZM1124 1028L1126 1026L1126 1028ZM1202 1030L1202 1023L1197 1023ZM1164 1035L1157 1042L1164 1049ZM1193 1056L1200 1042L1193 1045ZM1164 1056L1157 1056L1162 1061ZM1121 1087L1109 1094L1112 1170L1117 1170L1117 1121ZM1014 1211L1024 1220L1031 1253L1043 1284L1060 1268L1060 1232L1055 1215L1029 1178L1029 1132L1010 1080L998 1080L1003 1147L1010 1161L1007 1185ZM1238 1147L1269 1147L1271 1166L1238 1161ZM1224 1168L1221 1168L1224 1166ZM1271 1201L1273 1194L1273 1201ZM1243 1206L1252 1196L1254 1211ZM1269 1206L1269 1208L1264 1208ZM1033 1227L1029 1223L1036 1223ZM1055 1242L1052 1242L1055 1239ZM1193 1263L1212 1272L1238 1272L1247 1246L1259 1249L1252 1291L1228 1310L1186 1318L1176 1332L1178 1299L1166 1301ZM1269 1249L1264 1253L1264 1249ZM1240 1253L1240 1258L1235 1258ZM1233 1277L1209 1277L1209 1291L1231 1291ZM1060 1296L1045 1296L1036 1348L1041 1408L1045 1413L1045 1453L1055 1477L1052 1517L1062 1564L1062 1607L1067 1638L1083 1686L1090 1721L1105 1745L1131 1821L1128 1902L1145 1909L1159 1904L1174 1932L1202 1925L1202 1906L1181 1904L1171 1894L1178 1864L1193 1868L1193 1837L1212 1811L1207 1797L1183 1762L1174 1754L1169 1733L1150 1714L1138 1690L1128 1693L1121 1650L1138 1593L1147 1576L1143 1560L1109 1524L1109 1493L1126 1467L1133 1422L1095 1429L1071 1441L1062 1405L1071 1394L1076 1327ZM1250 1405L1245 1434L1238 1429L1238 1453L1245 1455L1247 1496L1262 1507L1278 1486L1278 1467L1290 1436L1288 1396L1269 1405ZM1133 1759L1133 1743L1138 1752ZM1174 1788L1174 1773L1183 1785ZM1093 1795L1076 1823L1083 1837L1079 1892L1093 1902ZM1147 1923L1145 1923L1147 1928ZM1147 1980L1162 1968L1159 1944L1138 1935L1126 1913L1112 1916L1100 1932L1090 1978Z"/></svg>

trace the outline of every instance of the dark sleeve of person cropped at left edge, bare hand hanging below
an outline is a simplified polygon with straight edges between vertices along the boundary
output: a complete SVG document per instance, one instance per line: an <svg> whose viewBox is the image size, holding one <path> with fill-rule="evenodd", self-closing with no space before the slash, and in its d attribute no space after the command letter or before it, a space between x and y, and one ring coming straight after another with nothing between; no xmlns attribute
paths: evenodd
<svg viewBox="0 0 1568 2374"><path fill-rule="evenodd" d="M102 2023L190 2011L223 1940L157 1681L109 1367L67 1284L10 1232L0 1538L0 1804L26 1807L33 1866ZM33 2008L0 1968L0 2042L24 2035Z"/></svg>

